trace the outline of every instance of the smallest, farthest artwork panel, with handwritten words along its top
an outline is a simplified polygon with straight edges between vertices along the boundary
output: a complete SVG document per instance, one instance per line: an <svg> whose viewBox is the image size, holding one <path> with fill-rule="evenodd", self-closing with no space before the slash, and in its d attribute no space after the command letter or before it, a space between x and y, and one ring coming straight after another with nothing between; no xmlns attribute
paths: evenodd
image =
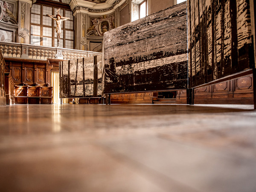
<svg viewBox="0 0 256 192"><path fill-rule="evenodd" d="M60 63L60 98L96 97L101 94L101 55Z"/></svg>

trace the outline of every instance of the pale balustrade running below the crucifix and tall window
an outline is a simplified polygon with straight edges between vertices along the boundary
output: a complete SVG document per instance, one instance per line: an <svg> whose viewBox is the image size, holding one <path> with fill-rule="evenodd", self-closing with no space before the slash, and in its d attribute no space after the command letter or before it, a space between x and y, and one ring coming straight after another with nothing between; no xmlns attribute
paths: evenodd
<svg viewBox="0 0 256 192"><path fill-rule="evenodd" d="M71 60L95 55L102 55L102 53L92 51L6 42L0 42L0 52L2 52L3 57L40 60L47 60L49 58Z"/></svg>

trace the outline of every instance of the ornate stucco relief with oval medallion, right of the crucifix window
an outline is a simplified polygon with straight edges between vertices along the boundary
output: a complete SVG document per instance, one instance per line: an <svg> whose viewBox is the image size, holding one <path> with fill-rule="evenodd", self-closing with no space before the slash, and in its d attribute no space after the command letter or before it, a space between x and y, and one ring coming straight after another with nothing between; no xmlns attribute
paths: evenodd
<svg viewBox="0 0 256 192"><path fill-rule="evenodd" d="M87 35L103 36L103 34L115 28L114 17L103 15L92 20L93 26L87 29Z"/></svg>

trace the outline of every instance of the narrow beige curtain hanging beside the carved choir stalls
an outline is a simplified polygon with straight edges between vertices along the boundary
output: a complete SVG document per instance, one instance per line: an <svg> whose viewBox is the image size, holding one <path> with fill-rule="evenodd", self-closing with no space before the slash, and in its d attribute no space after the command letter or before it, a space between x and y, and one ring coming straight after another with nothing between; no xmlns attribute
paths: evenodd
<svg viewBox="0 0 256 192"><path fill-rule="evenodd" d="M52 85L52 103L60 104L60 83L59 83L59 73L51 72L51 85Z"/></svg>

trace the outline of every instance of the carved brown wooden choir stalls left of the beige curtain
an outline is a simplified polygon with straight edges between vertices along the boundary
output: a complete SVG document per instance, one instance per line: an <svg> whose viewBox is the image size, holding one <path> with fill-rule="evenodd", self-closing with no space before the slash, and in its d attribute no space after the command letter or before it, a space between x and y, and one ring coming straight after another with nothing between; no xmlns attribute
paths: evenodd
<svg viewBox="0 0 256 192"><path fill-rule="evenodd" d="M6 75L13 80L15 104L52 104L50 71L53 64L47 61L5 58ZM9 82L9 84L12 84ZM12 92L12 86L9 85ZM10 95L13 100L12 95ZM11 101L10 100L10 101Z"/></svg>

